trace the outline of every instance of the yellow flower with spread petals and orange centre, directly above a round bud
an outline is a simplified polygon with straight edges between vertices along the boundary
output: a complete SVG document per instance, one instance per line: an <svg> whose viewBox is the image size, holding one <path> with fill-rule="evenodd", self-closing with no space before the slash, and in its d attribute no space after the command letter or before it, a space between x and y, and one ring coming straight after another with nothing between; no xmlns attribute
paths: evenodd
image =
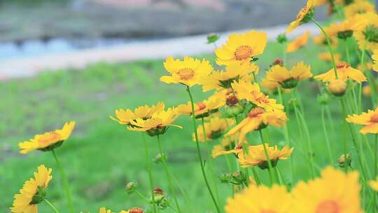
<svg viewBox="0 0 378 213"><path fill-rule="evenodd" d="M358 69L354 69L347 62L337 63L336 70L337 70L337 77L342 81L346 81L349 79L356 81L358 83L367 81L362 71L359 71ZM330 82L336 79L335 70L332 68L323 74L319 74L315 76L314 78L319 81Z"/></svg>

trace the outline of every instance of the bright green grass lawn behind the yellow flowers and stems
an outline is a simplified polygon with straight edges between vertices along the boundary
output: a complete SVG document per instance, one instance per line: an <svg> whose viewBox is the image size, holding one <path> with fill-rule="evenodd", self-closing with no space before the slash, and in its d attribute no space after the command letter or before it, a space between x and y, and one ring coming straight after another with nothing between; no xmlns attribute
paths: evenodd
<svg viewBox="0 0 378 213"><path fill-rule="evenodd" d="M329 64L318 62L315 53L319 48L309 46L300 53L288 55L289 62L305 60L312 65L314 73L330 68ZM260 74L276 57L281 57L281 47L269 43L265 54L260 57ZM212 55L206 55L214 62ZM69 140L57 149L57 156L66 168L73 191L76 212L97 212L99 207L109 207L117 212L129 207L145 207L137 195L127 195L125 185L129 181L139 183L141 192L148 194L148 179L145 170L144 147L141 135L128 132L109 116L118 108L134 108L142 104L164 101L174 106L188 101L182 85L167 85L159 82L165 74L162 60L144 60L130 63L99 63L84 70L58 70L45 72L33 78L15 79L0 83L0 212L8 212L13 195L18 193L26 179L36 167L45 164L53 168L53 179L48 189L48 198L60 212L68 212L64 191L60 184L59 170L51 153L34 151L27 156L18 153L18 142L35 134L60 128L66 121L76 121L76 129ZM200 101L208 94L195 88L195 100ZM316 102L316 83L300 86L305 116L311 130L314 156L318 168L328 164L325 140L321 129L320 107ZM286 95L286 100L289 97ZM336 131L330 132L330 141L335 156L342 154L341 119L339 102L330 103ZM295 171L297 179L307 179L307 165L298 137L293 112L288 114L290 135L294 140ZM162 136L168 155L169 167L186 189L192 200L193 212L213 210L210 197L204 186L197 161L195 144L191 141L190 118L181 117L176 122L183 130L171 128ZM282 130L269 128L273 144L283 144ZM147 137L153 156L158 153L155 137ZM251 135L251 143L260 142L258 135ZM218 142L211 142L216 144ZM350 140L349 140L349 143ZM207 146L202 146L204 149ZM205 151L205 150L204 150ZM349 150L355 158L355 151ZM214 161L215 173L228 172L224 158ZM279 162L288 177L288 160ZM357 167L355 161L353 166ZM267 181L266 171L259 170L260 178ZM167 190L167 181L161 164L153 164L155 186ZM216 179L216 177L214 177ZM230 196L230 187L216 179L223 208L225 198ZM173 202L173 200L172 200ZM183 209L188 209L180 196ZM45 203L40 212L50 212ZM167 210L169 212L170 210ZM186 211L187 212L187 211Z"/></svg>

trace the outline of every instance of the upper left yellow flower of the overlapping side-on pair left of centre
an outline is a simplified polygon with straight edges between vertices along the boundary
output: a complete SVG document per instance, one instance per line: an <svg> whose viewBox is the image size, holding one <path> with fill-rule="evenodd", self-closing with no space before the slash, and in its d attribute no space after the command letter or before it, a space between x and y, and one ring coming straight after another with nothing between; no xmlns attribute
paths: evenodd
<svg viewBox="0 0 378 213"><path fill-rule="evenodd" d="M152 107L149 107L148 105L137 107L134 109L134 111L131 109L117 109L115 112L116 118L113 116L110 116L110 118L120 124L130 125L130 122L137 118L151 118L153 114L164 109L165 104L163 102L158 102L158 104L153 105Z"/></svg>

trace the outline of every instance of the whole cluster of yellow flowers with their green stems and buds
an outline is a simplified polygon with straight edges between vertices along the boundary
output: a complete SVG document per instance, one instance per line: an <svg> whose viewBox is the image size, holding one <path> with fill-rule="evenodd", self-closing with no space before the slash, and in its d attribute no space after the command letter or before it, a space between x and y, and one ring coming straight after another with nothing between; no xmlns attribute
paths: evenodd
<svg viewBox="0 0 378 213"><path fill-rule="evenodd" d="M322 27L314 20L315 7L324 4L329 5L330 14L334 14L339 22L330 24L329 27ZM313 76L311 67L300 61L293 66L286 64L286 53L293 53L306 45L310 32L297 37L288 43L285 34L281 34L277 41L283 46L283 60L277 59L265 69L265 76L261 79L260 67L256 64L258 57L262 55L267 46L267 34L265 32L250 31L242 34L231 34L228 40L219 48L216 48L216 64L214 69L207 60L200 60L193 57L183 57L183 60L167 57L164 67L169 73L162 76L160 81L169 84L179 84L188 92L189 101L175 107L166 107L163 102L153 106L141 106L136 109L117 109L115 116L110 118L113 121L124 125L125 129L141 132L146 148L146 160L148 179L151 186L151 198L144 198L151 207L146 211L160 212L170 207L175 212L181 210L176 198L175 186L181 188L179 183L173 181L173 172L167 166L167 156L162 150L162 135L167 133L169 127L181 129L174 124L179 116L190 116L193 121L193 141L197 147L197 155L200 168L207 186L207 191L214 202L216 211L222 212L216 198L217 191L209 184L205 171L205 160L202 156L200 142L209 144L210 141L219 140L219 144L213 146L211 155L213 158L220 156L235 160L237 169L230 174L223 174L221 181L232 184L234 198L228 198L225 205L227 213L288 213L288 212L314 212L314 213L360 213L376 212L378 190L377 156L378 156L378 107L374 110L363 112L360 95L363 93L363 83L368 81L372 106L376 107L376 82L374 76L368 70L367 57L372 60L371 67L378 71L378 15L374 5L363 0L309 0L307 5L297 14L297 17L286 29L286 34L300 27L300 25L313 22L320 30L321 36L314 37L314 43L321 46L328 46L327 53L321 53L322 60L330 62L332 68L323 74ZM209 43L216 42L218 36L210 36ZM360 51L356 50L360 68L353 55L349 54L348 42L356 43ZM350 40L350 41L349 41ZM334 53L336 47L341 44L346 52ZM344 55L346 54L346 55ZM346 61L344 61L346 60ZM297 88L309 78L318 80L320 94L318 102L321 104L323 131L325 144L328 147L331 166L321 170L314 160L311 134L304 118L302 102L297 96ZM211 96L200 102L195 102L191 88L198 85L203 92L213 92ZM358 95L355 90L358 89ZM291 99L285 101L285 95L290 94ZM276 98L274 98L276 97ZM328 99L337 99L342 106L342 121L349 128L353 145L344 139L344 153L340 158L339 167L344 171L337 170L334 163L332 147L327 136L327 127L324 119L324 111L327 109ZM295 143L295 150L300 150L306 158L307 169L311 179L303 181L301 174L295 172L295 159L292 154L294 146L292 142L297 139L290 137L288 119L289 109L293 109L297 121L297 130L300 132L300 143ZM349 115L349 116L348 116ZM197 122L200 121L200 125ZM332 119L330 119L332 121ZM367 159L361 149L362 137L354 134L355 126L351 123L363 125L359 130L363 135L372 134L375 136L375 152L373 153L367 137L365 140L374 156L374 174L371 176ZM64 124L61 130L47 132L43 135L36 135L34 139L27 142L20 142L20 153L26 154L36 149L40 151L51 151L57 165L62 173L64 188L67 200L70 205L70 212L73 212L71 195L68 181L66 180L62 165L55 154L55 149L69 138L75 126L74 122ZM282 131L284 143L272 142L269 137L268 128L273 127ZM349 132L343 132L348 135ZM174 199L174 205L168 200L160 188L154 188L151 174L151 160L149 160L148 144L145 134L155 137L158 140L160 156L158 161L162 163L167 175L169 192ZM258 139L260 137L260 139ZM358 168L351 167L351 153L349 148L356 150L358 157ZM290 167L288 179L283 178L279 169L279 161L289 159ZM211 158L207 159L211 161ZM209 163L211 165L211 163ZM206 167L211 170L211 166ZM40 202L47 202L55 211L58 210L47 200L46 191L49 181L52 179L51 169L44 165L38 167L34 173L34 179L25 182L20 194L15 195L13 207L14 213L35 213ZM250 173L251 172L251 173ZM269 179L261 179L267 172ZM210 172L211 173L211 172ZM320 177L318 177L320 174ZM360 185L360 177L361 182ZM370 180L370 181L369 181ZM370 187L369 187L370 186ZM137 185L127 184L127 192L137 191ZM361 193L361 189L363 192ZM181 190L184 197L187 197L185 190ZM366 202L361 202L365 199ZM189 198L190 200L190 198ZM102 208L100 213L111 213L111 210ZM142 213L143 209L130 208L122 213Z"/></svg>

